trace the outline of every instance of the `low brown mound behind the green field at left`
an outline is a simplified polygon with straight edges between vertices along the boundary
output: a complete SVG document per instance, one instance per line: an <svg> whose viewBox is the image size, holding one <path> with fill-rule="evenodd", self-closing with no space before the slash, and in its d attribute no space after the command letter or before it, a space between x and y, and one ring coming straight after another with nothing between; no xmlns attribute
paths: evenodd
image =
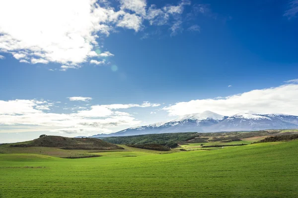
<svg viewBox="0 0 298 198"><path fill-rule="evenodd" d="M62 149L110 150L122 149L117 145L96 138L66 138L45 136L28 142L8 144L9 147L56 147Z"/></svg>

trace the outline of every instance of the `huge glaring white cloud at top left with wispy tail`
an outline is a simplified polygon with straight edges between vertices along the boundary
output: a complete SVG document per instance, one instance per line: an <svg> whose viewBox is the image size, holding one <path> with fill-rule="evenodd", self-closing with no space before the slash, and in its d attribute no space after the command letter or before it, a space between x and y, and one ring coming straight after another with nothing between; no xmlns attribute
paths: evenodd
<svg viewBox="0 0 298 198"><path fill-rule="evenodd" d="M0 51L25 63L60 63L62 71L79 68L92 57L113 56L109 51L97 54L98 38L109 36L116 27L144 29L151 25L181 29L181 14L189 0L178 5L156 8L146 0L119 0L111 6L96 0L2 0L0 1ZM115 11L120 7L120 10ZM55 14L53 14L55 13ZM1 58L2 56L0 56Z"/></svg>

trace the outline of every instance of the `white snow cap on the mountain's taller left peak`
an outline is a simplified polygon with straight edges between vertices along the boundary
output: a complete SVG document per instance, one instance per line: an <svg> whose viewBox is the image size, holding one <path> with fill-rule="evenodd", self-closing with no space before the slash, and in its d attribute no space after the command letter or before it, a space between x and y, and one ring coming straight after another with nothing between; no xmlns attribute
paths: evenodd
<svg viewBox="0 0 298 198"><path fill-rule="evenodd" d="M177 122L181 120L206 120L206 119L223 120L224 116L214 113L212 111L204 111L202 113L192 113L192 114L183 115L173 121Z"/></svg>

